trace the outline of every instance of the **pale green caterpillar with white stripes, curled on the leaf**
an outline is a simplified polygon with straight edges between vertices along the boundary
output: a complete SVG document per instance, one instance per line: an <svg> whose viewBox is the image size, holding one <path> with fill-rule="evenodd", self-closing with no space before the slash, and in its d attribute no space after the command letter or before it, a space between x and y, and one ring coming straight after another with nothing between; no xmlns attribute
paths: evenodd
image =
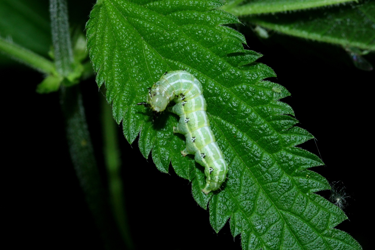
<svg viewBox="0 0 375 250"><path fill-rule="evenodd" d="M201 83L186 70L165 72L159 81L149 88L144 105L154 112L162 112L172 100L175 105L168 110L180 116L173 133L181 133L186 138L183 156L193 154L194 159L204 166L206 178L202 189L206 195L220 188L226 179L228 164L223 152L216 143L206 113L206 100L202 94Z"/></svg>

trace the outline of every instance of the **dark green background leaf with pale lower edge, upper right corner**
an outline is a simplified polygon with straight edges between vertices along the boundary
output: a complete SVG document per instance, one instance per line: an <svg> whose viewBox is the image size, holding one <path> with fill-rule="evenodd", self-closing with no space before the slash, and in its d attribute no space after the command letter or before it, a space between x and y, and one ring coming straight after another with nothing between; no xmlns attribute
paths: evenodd
<svg viewBox="0 0 375 250"><path fill-rule="evenodd" d="M374 1L299 13L249 16L242 21L291 36L375 51Z"/></svg>

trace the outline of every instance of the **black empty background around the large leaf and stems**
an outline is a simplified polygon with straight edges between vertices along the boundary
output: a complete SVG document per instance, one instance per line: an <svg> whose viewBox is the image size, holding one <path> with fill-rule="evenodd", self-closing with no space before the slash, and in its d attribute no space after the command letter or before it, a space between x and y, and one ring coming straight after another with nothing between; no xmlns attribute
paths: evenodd
<svg viewBox="0 0 375 250"><path fill-rule="evenodd" d="M299 126L315 136L300 147L326 166L313 168L330 183L340 181L350 196L344 208L349 220L337 228L351 234L363 249L371 248L374 72L356 69L339 47L270 33L260 40L249 28L249 48L264 54L258 61L272 67L291 93L283 99L295 111ZM366 57L373 64L374 56ZM84 201L69 158L57 93L39 95L40 73L24 66L1 68L3 82L3 194L9 219L7 231L18 246L102 249L98 230ZM89 130L105 183L100 124L102 90L94 79L81 83ZM127 215L136 249L241 249L228 223L216 234L208 211L191 195L189 181L173 169L163 174L144 159L137 141L120 138ZM319 149L319 151L318 151ZM147 186L139 186L140 169L147 169ZM143 178L145 178L143 176ZM177 187L173 192L171 187ZM329 191L319 192L329 198Z"/></svg>

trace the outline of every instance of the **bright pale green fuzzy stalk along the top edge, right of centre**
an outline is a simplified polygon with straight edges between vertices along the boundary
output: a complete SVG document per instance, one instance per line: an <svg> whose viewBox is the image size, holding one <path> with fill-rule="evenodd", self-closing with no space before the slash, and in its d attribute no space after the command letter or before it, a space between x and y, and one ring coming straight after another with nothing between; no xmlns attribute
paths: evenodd
<svg viewBox="0 0 375 250"><path fill-rule="evenodd" d="M221 9L233 13L236 16L284 12L291 10L311 9L316 7L330 6L353 2L353 0L253 0L228 1Z"/></svg>

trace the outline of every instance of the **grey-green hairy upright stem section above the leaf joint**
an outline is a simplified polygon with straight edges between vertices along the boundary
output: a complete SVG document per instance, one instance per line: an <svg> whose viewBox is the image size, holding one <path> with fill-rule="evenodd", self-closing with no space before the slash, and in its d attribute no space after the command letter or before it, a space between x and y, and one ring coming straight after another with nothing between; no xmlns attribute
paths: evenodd
<svg viewBox="0 0 375 250"><path fill-rule="evenodd" d="M66 77L74 60L66 0L49 0L49 12L56 70Z"/></svg>

